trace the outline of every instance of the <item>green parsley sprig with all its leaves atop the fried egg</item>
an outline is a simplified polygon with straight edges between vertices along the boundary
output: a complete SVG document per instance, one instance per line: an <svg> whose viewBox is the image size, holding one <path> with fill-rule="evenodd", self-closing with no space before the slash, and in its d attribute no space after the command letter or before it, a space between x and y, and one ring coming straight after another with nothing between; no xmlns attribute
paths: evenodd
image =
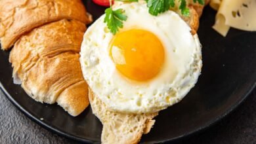
<svg viewBox="0 0 256 144"><path fill-rule="evenodd" d="M114 0L122 2L138 2L139 0ZM175 7L175 0L145 0L148 7L148 12L153 16L158 16L158 14L169 10L171 7ZM177 0L176 0L177 1ZM204 0L193 0L194 3L200 3L204 5ZM125 10L123 9L112 9L112 1L110 0L110 8L105 10L106 17L104 18L104 23L107 24L108 29L114 35L117 33L119 28L123 27L123 21L127 20L125 15ZM186 7L186 0L179 0L181 14L184 16L189 16L189 9Z"/></svg>

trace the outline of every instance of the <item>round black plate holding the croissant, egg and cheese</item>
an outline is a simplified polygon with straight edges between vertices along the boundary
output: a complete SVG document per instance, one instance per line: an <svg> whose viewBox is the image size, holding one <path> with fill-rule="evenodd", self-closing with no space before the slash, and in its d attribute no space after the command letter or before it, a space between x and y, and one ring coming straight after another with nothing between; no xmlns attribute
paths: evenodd
<svg viewBox="0 0 256 144"><path fill-rule="evenodd" d="M95 19L104 12L91 0L85 1L85 5ZM207 7L198 31L203 45L203 69L198 84L180 103L161 111L142 142L172 141L198 132L230 113L254 88L256 33L231 29L227 37L221 37L211 28L214 18L215 12ZM35 102L19 85L13 84L8 58L9 52L0 50L1 88L14 105L57 134L84 142L100 141L102 125L91 109L71 117L57 105Z"/></svg>

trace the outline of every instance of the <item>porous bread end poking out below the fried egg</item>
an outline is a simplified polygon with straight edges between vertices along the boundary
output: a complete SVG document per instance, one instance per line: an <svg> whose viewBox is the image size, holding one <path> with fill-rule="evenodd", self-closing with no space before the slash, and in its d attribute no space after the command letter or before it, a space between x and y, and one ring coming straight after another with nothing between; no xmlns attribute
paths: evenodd
<svg viewBox="0 0 256 144"><path fill-rule="evenodd" d="M158 113L151 114L123 114L109 111L93 92L89 89L89 100L93 114L103 124L101 134L102 143L138 143L142 134L148 134L155 123L153 120Z"/></svg>

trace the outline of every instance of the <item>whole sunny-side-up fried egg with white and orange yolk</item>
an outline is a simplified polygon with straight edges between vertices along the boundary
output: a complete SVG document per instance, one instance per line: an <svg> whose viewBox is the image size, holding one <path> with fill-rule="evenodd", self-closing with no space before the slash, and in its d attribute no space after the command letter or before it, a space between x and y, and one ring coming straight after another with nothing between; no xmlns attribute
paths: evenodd
<svg viewBox="0 0 256 144"><path fill-rule="evenodd" d="M102 15L83 38L80 63L91 90L121 113L153 113L181 101L202 68L198 36L171 10L152 16L146 3L114 9L127 15L116 35Z"/></svg>

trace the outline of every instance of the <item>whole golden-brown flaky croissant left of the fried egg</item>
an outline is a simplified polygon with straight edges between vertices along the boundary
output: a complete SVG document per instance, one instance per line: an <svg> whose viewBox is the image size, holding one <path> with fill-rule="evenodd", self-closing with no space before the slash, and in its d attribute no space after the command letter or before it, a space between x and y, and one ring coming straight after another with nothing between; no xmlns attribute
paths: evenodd
<svg viewBox="0 0 256 144"><path fill-rule="evenodd" d="M2 0L1 46L14 45L14 83L36 101L58 103L72 116L83 112L89 99L79 51L89 21L79 0Z"/></svg>

